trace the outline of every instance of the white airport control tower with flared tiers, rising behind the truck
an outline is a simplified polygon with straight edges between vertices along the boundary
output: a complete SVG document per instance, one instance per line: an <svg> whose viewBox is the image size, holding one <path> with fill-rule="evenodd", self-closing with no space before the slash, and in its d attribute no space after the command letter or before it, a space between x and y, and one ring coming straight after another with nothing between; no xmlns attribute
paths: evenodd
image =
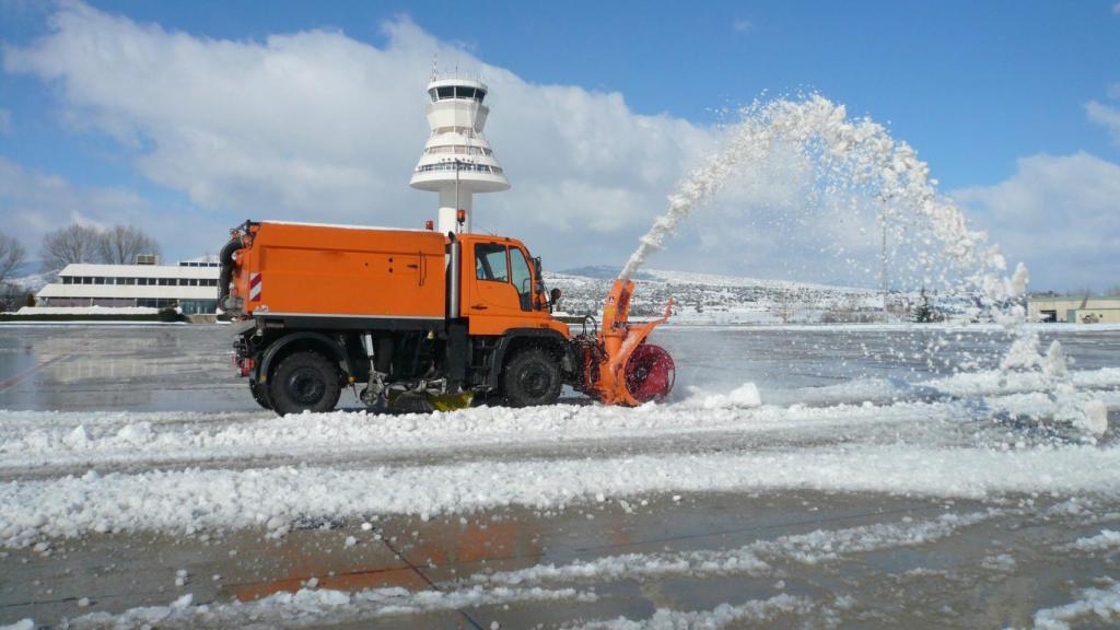
<svg viewBox="0 0 1120 630"><path fill-rule="evenodd" d="M409 185L439 193L438 229L442 234L470 231L475 193L494 193L510 187L483 136L489 114L489 108L483 104L486 92L482 81L440 77L432 67L428 84L431 136Z"/></svg>

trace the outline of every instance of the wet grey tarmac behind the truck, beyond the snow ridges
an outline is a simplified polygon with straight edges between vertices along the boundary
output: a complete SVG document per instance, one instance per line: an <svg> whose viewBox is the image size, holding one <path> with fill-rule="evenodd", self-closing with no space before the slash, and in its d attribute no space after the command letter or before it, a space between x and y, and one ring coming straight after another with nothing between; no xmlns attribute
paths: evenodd
<svg viewBox="0 0 1120 630"><path fill-rule="evenodd" d="M753 330L663 326L655 342L676 363L674 398L754 382L764 401L792 404L804 389L856 379L921 381L956 369L992 369L1010 342L1001 331ZM1120 332L1072 327L1061 340L1071 368L1120 364ZM255 410L234 376L223 325L0 325L0 409ZM572 392L568 392L572 395ZM358 408L344 391L339 406Z"/></svg>

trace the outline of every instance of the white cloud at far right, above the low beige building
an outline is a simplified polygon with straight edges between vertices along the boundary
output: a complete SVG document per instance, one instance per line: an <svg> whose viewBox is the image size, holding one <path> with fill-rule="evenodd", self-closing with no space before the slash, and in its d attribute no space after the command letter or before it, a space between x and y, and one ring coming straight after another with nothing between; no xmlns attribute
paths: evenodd
<svg viewBox="0 0 1120 630"><path fill-rule="evenodd" d="M1107 288L1120 278L1120 165L1079 152L1023 158L1008 179L958 191L1034 288Z"/></svg>

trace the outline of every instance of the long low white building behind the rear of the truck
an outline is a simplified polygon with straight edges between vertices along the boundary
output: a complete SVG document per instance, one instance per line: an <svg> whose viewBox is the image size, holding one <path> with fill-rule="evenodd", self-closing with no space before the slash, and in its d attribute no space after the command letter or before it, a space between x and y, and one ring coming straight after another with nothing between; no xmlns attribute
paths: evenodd
<svg viewBox="0 0 1120 630"><path fill-rule="evenodd" d="M36 294L39 306L178 307L187 315L217 309L221 269L213 257L178 265L67 265Z"/></svg>

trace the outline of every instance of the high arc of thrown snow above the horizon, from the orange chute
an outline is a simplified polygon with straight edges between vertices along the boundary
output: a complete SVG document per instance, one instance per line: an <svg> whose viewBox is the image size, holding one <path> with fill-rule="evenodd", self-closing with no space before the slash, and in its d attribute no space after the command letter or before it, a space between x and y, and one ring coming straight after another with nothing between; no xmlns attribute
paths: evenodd
<svg viewBox="0 0 1120 630"><path fill-rule="evenodd" d="M1010 278L1004 278L1007 262L999 249L987 244L983 232L968 228L960 209L937 195L928 165L883 126L869 118L849 120L843 105L820 95L756 102L740 114L741 121L728 128L716 155L676 185L669 196L669 211L642 237L622 278L633 277L652 252L664 247L682 220L722 188L738 166L768 161L782 146L811 159L829 194L875 195L890 200L894 209L924 219L945 260L964 271L989 299L1006 300L1026 290L1026 269L1020 266Z"/></svg>

